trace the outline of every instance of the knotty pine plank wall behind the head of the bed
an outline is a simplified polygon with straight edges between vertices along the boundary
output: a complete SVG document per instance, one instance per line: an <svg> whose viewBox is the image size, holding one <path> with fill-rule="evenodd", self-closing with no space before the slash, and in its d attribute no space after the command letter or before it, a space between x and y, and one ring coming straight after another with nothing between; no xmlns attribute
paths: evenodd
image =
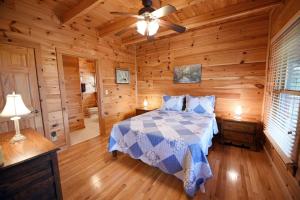
<svg viewBox="0 0 300 200"><path fill-rule="evenodd" d="M147 98L159 107L163 94L215 95L218 116L241 105L246 116L260 119L267 38L268 16L262 15L138 45L138 105ZM173 83L174 66L197 63L201 83Z"/></svg>

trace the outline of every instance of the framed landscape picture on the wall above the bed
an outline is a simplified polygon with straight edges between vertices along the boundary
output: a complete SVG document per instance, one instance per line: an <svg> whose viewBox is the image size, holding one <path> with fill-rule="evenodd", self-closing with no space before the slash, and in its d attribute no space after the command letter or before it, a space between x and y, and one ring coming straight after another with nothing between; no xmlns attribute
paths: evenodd
<svg viewBox="0 0 300 200"><path fill-rule="evenodd" d="M174 67L174 83L199 83L201 65L182 65Z"/></svg>

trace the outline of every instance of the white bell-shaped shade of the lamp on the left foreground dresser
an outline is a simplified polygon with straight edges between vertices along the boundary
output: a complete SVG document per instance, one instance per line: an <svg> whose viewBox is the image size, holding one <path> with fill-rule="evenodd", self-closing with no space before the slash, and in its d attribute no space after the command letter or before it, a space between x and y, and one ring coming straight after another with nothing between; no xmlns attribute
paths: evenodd
<svg viewBox="0 0 300 200"><path fill-rule="evenodd" d="M21 95L9 94L6 96L6 104L0 113L1 117L17 117L27 115L31 111L25 106Z"/></svg>

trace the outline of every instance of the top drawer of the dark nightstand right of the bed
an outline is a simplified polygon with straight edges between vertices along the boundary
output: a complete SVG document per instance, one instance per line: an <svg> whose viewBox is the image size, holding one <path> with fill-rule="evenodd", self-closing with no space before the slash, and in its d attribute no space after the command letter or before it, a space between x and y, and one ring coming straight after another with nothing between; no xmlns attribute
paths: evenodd
<svg viewBox="0 0 300 200"><path fill-rule="evenodd" d="M256 124L225 121L223 124L223 129L254 134L256 131Z"/></svg>

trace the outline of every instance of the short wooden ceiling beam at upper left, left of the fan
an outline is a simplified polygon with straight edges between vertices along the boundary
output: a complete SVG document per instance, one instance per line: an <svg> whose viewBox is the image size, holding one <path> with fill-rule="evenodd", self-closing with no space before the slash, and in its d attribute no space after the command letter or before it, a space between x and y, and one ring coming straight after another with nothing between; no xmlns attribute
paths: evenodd
<svg viewBox="0 0 300 200"><path fill-rule="evenodd" d="M103 0L81 0L76 6L63 14L61 21L63 24L71 22L75 18L88 13L100 3L103 3Z"/></svg>

